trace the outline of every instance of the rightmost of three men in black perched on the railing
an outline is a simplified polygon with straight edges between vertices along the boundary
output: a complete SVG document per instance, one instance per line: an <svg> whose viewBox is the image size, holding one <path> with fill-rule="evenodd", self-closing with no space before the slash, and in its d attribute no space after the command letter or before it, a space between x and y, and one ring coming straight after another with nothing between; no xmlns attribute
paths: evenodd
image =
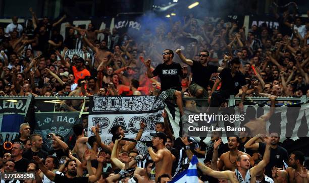
<svg viewBox="0 0 309 183"><path fill-rule="evenodd" d="M220 107L230 95L236 95L240 88L242 89L242 95L239 109L241 111L243 110L243 101L246 97L247 86L244 75L239 71L240 64L239 58L235 57L230 62L231 68L224 68L221 71L208 99L208 102L210 102L210 106L212 107L211 112L216 113L216 111L218 111L216 107ZM215 91L220 82L221 88Z"/></svg>

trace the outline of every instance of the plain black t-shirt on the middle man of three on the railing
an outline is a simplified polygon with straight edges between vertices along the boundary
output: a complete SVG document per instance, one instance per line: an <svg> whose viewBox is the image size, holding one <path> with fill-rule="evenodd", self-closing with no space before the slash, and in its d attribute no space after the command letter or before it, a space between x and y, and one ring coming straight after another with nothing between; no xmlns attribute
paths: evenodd
<svg viewBox="0 0 309 183"><path fill-rule="evenodd" d="M200 62L196 62L195 60L192 61L192 83L196 83L204 89L207 89L211 75L218 72L218 66L209 64L207 66L203 66Z"/></svg>

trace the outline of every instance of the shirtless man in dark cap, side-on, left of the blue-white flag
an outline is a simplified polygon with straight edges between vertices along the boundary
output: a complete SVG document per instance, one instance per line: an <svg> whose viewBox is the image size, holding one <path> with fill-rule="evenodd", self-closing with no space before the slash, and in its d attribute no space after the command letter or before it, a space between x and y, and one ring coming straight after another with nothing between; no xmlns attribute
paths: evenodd
<svg viewBox="0 0 309 183"><path fill-rule="evenodd" d="M167 136L163 132L150 133L152 136L152 146L157 149L153 151L152 147L148 147L151 159L156 163L156 182L162 174L172 175L172 165L175 156L165 147Z"/></svg>

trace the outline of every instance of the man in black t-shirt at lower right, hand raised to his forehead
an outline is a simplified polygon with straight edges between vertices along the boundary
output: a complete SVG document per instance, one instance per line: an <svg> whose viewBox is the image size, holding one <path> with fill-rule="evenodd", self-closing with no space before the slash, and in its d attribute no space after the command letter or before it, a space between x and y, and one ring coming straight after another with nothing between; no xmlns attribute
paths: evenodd
<svg viewBox="0 0 309 183"><path fill-rule="evenodd" d="M251 138L244 147L246 149L251 150L258 150L262 156L264 155L266 144L264 142L255 143L257 140L264 138L265 136L262 134L258 134ZM281 146L278 145L278 142L280 140L279 134L276 132L270 133L271 137L271 154L270 154L270 162L265 167L265 174L269 177L272 177L272 168L274 166L278 168L287 168L287 162L288 162L288 153L287 150Z"/></svg>

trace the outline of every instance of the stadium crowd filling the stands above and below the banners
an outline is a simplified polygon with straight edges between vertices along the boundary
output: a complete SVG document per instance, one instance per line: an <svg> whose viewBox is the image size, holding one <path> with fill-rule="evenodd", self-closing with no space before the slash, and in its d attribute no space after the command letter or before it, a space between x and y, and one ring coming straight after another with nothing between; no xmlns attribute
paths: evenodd
<svg viewBox="0 0 309 183"><path fill-rule="evenodd" d="M279 29L235 22L212 22L204 17L198 23L192 15L184 21L160 24L154 32L145 29L137 39L120 35L117 29L97 30L67 25L68 35L60 35L57 22L47 17L32 19L26 25L13 23L0 28L0 93L19 96L128 96L161 92L175 100L186 121L184 107L220 107L230 94L267 96L274 106L277 97L309 97L309 21L288 12L278 16ZM309 11L307 12L309 16ZM97 40L103 33L104 39ZM186 38L189 43L178 40ZM82 49L84 56L67 52ZM161 52L162 53L161 53ZM90 55L90 56L89 56ZM174 60L174 61L173 61ZM187 66L190 66L188 68ZM183 97L209 97L208 101L185 102ZM81 103L64 101L63 110L80 111ZM269 114L270 115L270 114ZM222 134L213 132L211 141L196 146L194 139L175 139L165 123L156 124L152 143L143 153L136 142L121 140L121 126L111 129L113 143L86 137L87 125L73 128L76 142L69 149L64 138L50 134L53 151L42 149L42 137L30 135L30 126L20 126L20 136L12 149L3 153L1 172L34 172L35 179L24 182L167 182L188 167L192 153L198 162L200 182L308 182L304 152L288 152L279 144L279 133L240 133L222 143ZM268 120L269 116L262 117ZM136 140L140 140L144 124ZM87 144L91 147L88 148ZM141 163L143 162L143 163ZM111 167L105 168L107 164ZM18 180L1 182L18 182Z"/></svg>

